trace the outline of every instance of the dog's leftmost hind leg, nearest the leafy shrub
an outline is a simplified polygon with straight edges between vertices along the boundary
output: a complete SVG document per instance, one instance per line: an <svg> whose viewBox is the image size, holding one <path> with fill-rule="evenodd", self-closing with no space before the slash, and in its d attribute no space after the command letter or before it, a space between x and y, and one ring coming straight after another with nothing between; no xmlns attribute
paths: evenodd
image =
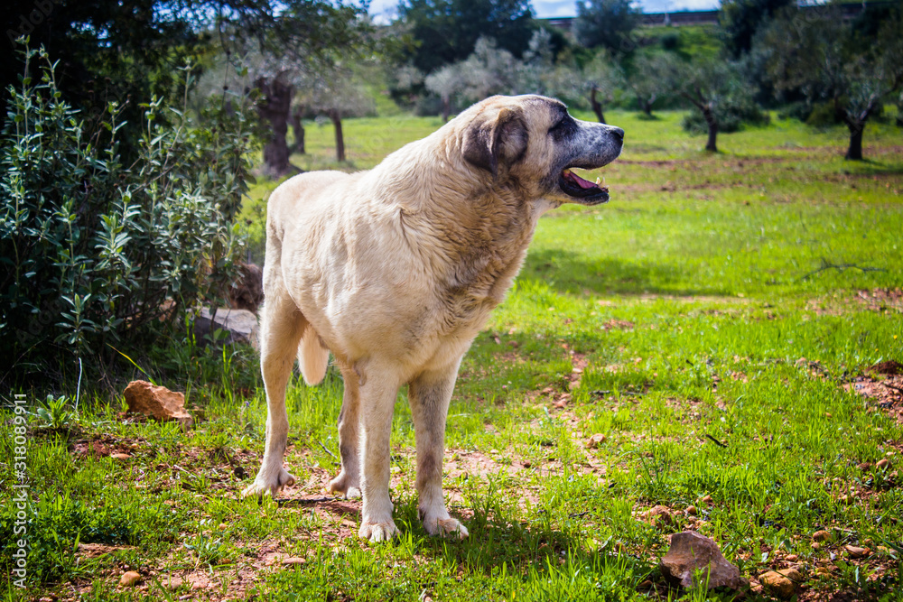
<svg viewBox="0 0 903 602"><path fill-rule="evenodd" d="M288 440L285 386L292 375L306 320L279 284L266 291L260 324L260 368L266 390L264 459L254 483L242 492L245 496L275 495L283 486L294 483L294 477L283 468Z"/></svg>

